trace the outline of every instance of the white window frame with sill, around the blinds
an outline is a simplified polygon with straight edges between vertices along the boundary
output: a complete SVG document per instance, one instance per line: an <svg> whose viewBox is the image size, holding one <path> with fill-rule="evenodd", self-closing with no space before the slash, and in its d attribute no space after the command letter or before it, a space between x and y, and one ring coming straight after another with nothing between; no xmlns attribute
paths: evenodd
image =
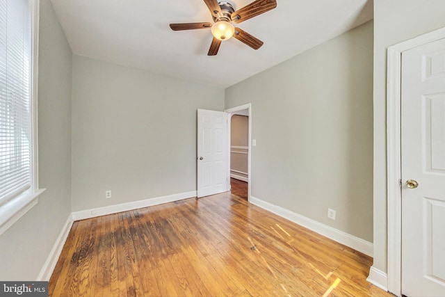
<svg viewBox="0 0 445 297"><path fill-rule="evenodd" d="M38 203L38 40L39 0L31 0L31 188L0 206L0 234Z"/></svg>

